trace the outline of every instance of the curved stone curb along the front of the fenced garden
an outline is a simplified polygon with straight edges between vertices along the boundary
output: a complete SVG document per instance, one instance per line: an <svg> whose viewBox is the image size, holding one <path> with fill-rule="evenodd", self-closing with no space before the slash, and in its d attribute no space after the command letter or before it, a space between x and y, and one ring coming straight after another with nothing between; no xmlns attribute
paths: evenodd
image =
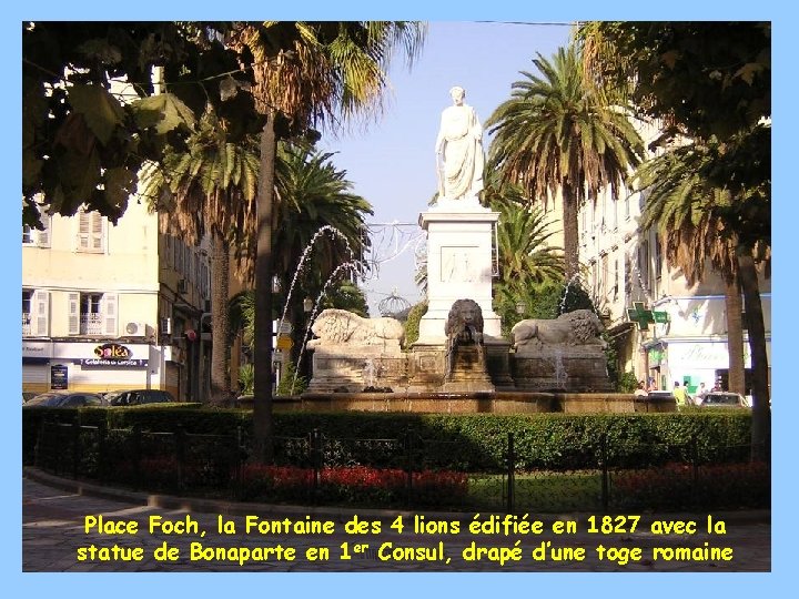
<svg viewBox="0 0 799 599"><path fill-rule="evenodd" d="M333 506L295 506L283 504L256 504L247 501L232 501L221 499L203 499L201 497L176 497L174 495L149 494L145 491L134 491L120 489L117 487L107 487L83 480L64 478L48 473L43 473L31 466L23 466L22 477L42 485L67 490L75 495L85 495L90 497L99 497L113 501L123 501L141 506L158 507L163 509L182 509L186 511L201 514L222 514L230 516L246 516L250 514L270 514L272 516L316 516L331 520L351 519L353 516L368 516L374 519L396 518L396 516L409 517L414 514L423 512L425 516L447 520L469 521L473 519L475 511L427 511L427 510L407 510L407 509L374 509L374 508L346 508ZM484 512L488 514L488 512ZM711 512L654 512L647 510L640 515L657 516L661 519L689 520L698 517L712 515L717 520L724 520L728 524L765 524L771 525L770 509L748 509L748 510L726 510ZM585 521L593 514L589 512L569 512L569 514L536 514L537 517L552 518L553 520L577 520Z"/></svg>

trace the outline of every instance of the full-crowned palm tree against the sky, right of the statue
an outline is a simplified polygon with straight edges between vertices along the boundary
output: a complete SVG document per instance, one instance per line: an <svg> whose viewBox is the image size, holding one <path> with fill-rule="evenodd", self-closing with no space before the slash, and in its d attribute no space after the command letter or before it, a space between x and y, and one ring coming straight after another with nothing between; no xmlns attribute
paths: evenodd
<svg viewBox="0 0 799 599"><path fill-rule="evenodd" d="M540 77L523 71L512 98L486 121L490 133L488 169L519 183L546 204L563 197L566 277L579 271L580 205L609 187L615 196L644 156L644 144L629 113L607 105L585 83L578 50L560 48L552 61L533 60Z"/></svg>

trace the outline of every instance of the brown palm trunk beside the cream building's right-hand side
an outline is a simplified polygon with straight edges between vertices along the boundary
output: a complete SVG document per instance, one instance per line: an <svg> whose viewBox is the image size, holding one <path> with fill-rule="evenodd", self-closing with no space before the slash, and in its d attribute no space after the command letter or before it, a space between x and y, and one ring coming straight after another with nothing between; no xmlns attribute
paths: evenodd
<svg viewBox="0 0 799 599"><path fill-rule="evenodd" d="M231 395L230 322L227 319L230 245L222 235L211 238L211 397L222 405ZM202 337L201 337L202 339ZM202 343L202 341L201 341Z"/></svg>

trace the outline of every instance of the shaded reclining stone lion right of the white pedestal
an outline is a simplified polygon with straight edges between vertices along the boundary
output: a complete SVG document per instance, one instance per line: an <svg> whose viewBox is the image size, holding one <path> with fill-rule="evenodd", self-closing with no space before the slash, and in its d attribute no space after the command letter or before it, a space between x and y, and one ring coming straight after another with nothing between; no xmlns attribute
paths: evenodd
<svg viewBox="0 0 799 599"><path fill-rule="evenodd" d="M598 346L607 344L599 337L603 332L599 317L590 309L575 309L555 319L529 318L520 321L510 329L515 348L530 346Z"/></svg>

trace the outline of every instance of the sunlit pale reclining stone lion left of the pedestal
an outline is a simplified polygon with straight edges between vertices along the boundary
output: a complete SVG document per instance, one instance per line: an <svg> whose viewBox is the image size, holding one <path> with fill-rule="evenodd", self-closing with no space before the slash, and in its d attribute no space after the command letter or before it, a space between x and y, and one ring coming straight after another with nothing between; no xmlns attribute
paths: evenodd
<svg viewBox="0 0 799 599"><path fill-rule="evenodd" d="M400 344L403 325L396 318L364 318L346 309L327 308L316 317L311 331L317 338L309 347L332 345L392 345Z"/></svg>

